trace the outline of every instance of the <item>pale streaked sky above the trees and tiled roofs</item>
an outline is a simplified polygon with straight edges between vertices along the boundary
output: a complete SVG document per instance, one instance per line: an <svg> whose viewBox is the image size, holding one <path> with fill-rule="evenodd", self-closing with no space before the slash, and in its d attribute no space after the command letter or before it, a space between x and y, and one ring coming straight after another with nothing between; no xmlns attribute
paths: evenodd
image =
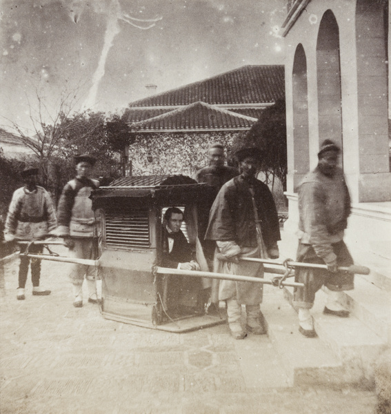
<svg viewBox="0 0 391 414"><path fill-rule="evenodd" d="M0 0L0 126L32 130L63 93L75 110L128 103L245 65L283 64L286 0Z"/></svg>

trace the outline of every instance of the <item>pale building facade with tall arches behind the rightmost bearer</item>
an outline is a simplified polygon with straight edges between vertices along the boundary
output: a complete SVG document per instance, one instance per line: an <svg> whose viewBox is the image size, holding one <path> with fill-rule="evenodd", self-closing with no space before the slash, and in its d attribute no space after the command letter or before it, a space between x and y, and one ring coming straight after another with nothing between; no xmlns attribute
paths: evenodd
<svg viewBox="0 0 391 414"><path fill-rule="evenodd" d="M350 244L391 258L387 0L288 2L285 37L289 220L324 139L341 146Z"/></svg>

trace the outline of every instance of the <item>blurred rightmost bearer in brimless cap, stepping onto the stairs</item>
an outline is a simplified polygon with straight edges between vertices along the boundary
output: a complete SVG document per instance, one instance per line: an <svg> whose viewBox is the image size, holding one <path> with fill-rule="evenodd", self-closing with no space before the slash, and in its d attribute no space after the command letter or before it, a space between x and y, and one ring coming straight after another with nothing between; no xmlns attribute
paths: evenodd
<svg viewBox="0 0 391 414"><path fill-rule="evenodd" d="M326 286L328 300L323 313L348 317L343 290L354 288L354 275L343 273L338 266L350 266L352 257L343 242L343 233L350 215L350 196L338 165L339 146L323 141L318 153L318 165L299 184L299 247L297 262L326 264L328 270L295 270L297 282L305 288L295 288L294 305L299 308L299 331L314 337L314 322L310 309L315 293Z"/></svg>

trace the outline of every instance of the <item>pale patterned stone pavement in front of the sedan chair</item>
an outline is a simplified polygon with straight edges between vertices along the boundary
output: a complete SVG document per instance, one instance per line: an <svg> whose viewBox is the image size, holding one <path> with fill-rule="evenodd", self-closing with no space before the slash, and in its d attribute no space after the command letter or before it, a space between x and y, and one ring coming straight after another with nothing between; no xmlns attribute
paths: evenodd
<svg viewBox="0 0 391 414"><path fill-rule="evenodd" d="M2 414L374 413L373 391L288 387L267 336L235 341L225 325L167 333L74 308L68 264L42 262L52 294L32 296L29 275L17 301L18 266L4 265L0 286Z"/></svg>

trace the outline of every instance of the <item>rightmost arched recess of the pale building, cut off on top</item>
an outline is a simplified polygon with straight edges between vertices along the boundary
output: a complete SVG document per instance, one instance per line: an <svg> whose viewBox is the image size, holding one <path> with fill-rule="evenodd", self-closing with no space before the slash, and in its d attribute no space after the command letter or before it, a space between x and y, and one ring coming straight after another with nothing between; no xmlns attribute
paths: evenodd
<svg viewBox="0 0 391 414"><path fill-rule="evenodd" d="M356 45L359 172L389 172L387 0L357 0Z"/></svg>

